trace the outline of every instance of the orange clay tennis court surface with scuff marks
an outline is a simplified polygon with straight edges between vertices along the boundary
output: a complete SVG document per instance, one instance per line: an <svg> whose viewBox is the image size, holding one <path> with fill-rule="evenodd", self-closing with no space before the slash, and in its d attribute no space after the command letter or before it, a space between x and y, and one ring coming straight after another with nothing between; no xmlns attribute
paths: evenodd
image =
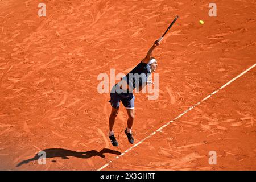
<svg viewBox="0 0 256 182"><path fill-rule="evenodd" d="M109 142L97 76L129 72L175 15L158 100L135 94L135 143L256 63L255 1L216 0L217 17L212 1L43 1L46 17L40 2L0 1L1 170L97 170L129 149L122 104ZM255 108L256 67L104 170L256 170Z"/></svg>

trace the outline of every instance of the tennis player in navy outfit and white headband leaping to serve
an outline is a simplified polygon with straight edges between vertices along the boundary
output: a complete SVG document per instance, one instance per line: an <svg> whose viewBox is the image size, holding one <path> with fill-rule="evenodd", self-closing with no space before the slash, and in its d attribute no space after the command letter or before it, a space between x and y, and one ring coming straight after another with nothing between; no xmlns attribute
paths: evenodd
<svg viewBox="0 0 256 182"><path fill-rule="evenodd" d="M127 128L125 129L125 134L131 144L134 143L133 133L131 128L134 122L134 100L135 96L133 94L134 89L142 90L146 84L154 84L148 77L152 72L156 71L158 67L157 61L152 56L154 49L159 46L159 40L156 40L153 46L147 52L146 57L139 63L132 71L130 71L125 77L122 78L120 82L113 86L110 92L110 103L112 106L112 111L109 117L109 138L113 146L118 146L118 142L115 139L113 126L115 122L115 117L117 117L120 101L122 101L123 106L125 106L128 114Z"/></svg>

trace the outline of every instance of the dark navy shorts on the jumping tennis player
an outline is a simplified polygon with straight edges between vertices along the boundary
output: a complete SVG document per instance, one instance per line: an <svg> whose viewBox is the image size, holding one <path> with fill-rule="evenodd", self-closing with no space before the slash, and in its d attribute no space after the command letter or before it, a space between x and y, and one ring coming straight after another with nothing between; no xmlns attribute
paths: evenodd
<svg viewBox="0 0 256 182"><path fill-rule="evenodd" d="M126 109L134 109L134 100L135 96L133 93L117 93L112 92L110 93L110 103L111 106L115 109L118 109L120 106L120 101L122 101L123 106Z"/></svg>

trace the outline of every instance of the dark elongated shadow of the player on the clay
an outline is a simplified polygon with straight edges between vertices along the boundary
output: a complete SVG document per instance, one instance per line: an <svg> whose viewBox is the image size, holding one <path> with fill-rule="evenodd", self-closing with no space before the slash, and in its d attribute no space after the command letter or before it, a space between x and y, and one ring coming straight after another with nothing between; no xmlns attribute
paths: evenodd
<svg viewBox="0 0 256 182"><path fill-rule="evenodd" d="M121 154L121 152L111 150L108 148L104 148L100 152L98 152L96 150L90 150L87 152L76 152L76 151L67 150L67 149L63 149L63 148L49 148L49 149L43 150L43 152L46 152L45 153L46 158L58 158L59 157L62 159L69 159L68 158L69 156L72 156L75 158L82 158L82 159L92 158L93 156L100 156L101 158L105 158L104 154L107 154L107 153L108 154L116 154L116 155ZM42 158L42 151L38 152L38 154L36 154L34 156L34 158L23 160L22 162L17 164L16 167L22 166L23 164L27 164L34 160L38 160L39 158ZM52 161L52 162L56 162L56 161Z"/></svg>

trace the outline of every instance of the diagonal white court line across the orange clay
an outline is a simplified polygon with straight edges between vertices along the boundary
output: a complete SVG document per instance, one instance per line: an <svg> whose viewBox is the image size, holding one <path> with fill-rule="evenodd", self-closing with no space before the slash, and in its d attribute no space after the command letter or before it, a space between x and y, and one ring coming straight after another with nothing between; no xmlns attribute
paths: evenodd
<svg viewBox="0 0 256 182"><path fill-rule="evenodd" d="M201 104L201 102L207 100L208 98L212 97L214 94L216 94L218 91L220 91L221 89L225 88L227 85L229 85L230 83L232 83L233 81L237 80L237 78L241 77L242 75L244 75L247 71L249 71L250 69L253 69L256 66L256 63L254 65L252 65L250 68L246 69L246 71L242 72L240 75L234 77L232 80L230 80L229 82L227 82L225 85L221 86L221 88L219 88L218 90L215 90L213 93L209 94L209 96L203 98L203 100L201 100L200 102L197 102L195 105L189 107L189 109L185 110L183 113L181 113L180 115L178 115L175 119L173 119L172 121L168 121L168 123L166 123L165 125L161 126L159 129L157 129L156 131L154 131L153 133L151 133L150 135L148 135L146 138L142 139L141 141L139 141L138 143L134 144L134 146L130 147L129 149L127 149L125 152L123 152L122 154L120 154L119 156L117 156L116 158L114 158L113 160L111 160L109 163L106 163L104 166L102 166L101 168L97 169L97 171L101 171L102 169L104 169L105 167L109 166L110 163L112 163L114 160L118 159L120 156L125 155L127 152L129 152L130 150L132 150L133 148L137 147L139 144L141 144L142 142L144 142L144 140L152 137L152 135L156 134L157 132L160 132L160 130L162 130L164 127L170 125L171 122L174 122L176 119L179 119L181 116L183 116L185 113L187 113L189 110L192 110L194 107L198 106L199 104Z"/></svg>

